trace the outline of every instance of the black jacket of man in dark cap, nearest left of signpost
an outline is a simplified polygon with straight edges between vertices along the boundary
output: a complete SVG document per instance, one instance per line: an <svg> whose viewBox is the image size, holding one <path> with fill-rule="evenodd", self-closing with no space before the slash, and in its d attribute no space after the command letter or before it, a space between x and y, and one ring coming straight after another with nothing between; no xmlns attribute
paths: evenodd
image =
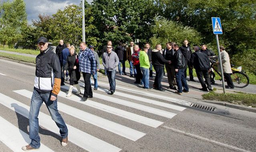
<svg viewBox="0 0 256 152"><path fill-rule="evenodd" d="M210 69L210 61L208 56L201 51L196 51L192 54L190 63L190 65L193 65L196 70Z"/></svg>

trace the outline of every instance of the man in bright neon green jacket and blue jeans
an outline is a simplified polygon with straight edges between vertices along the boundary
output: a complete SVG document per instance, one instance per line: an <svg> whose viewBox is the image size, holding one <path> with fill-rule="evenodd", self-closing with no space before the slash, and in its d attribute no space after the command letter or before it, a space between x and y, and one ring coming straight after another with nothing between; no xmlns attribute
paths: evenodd
<svg viewBox="0 0 256 152"><path fill-rule="evenodd" d="M141 72L143 75L142 82L144 84L144 89L149 89L149 57L147 56L147 48L144 47L143 50L139 51L139 63Z"/></svg>

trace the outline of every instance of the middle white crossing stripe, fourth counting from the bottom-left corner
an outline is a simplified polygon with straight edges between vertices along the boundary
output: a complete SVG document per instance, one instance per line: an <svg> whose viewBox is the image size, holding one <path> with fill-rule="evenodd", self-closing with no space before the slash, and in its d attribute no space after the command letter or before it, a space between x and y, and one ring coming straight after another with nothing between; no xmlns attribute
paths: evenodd
<svg viewBox="0 0 256 152"><path fill-rule="evenodd" d="M61 86L61 88L69 89L68 86ZM129 120L132 120L132 121L135 121L135 122L139 122L141 124L145 124L147 126L157 128L158 126L163 124L163 122L160 122L160 121L157 121L157 120L154 120L154 119L151 119L151 118L147 118L147 117L144 117L144 116L140 116L138 114L133 114L133 113L127 112L125 110L121 110L121 109L118 109L118 108L107 106L105 104L94 102L94 101L91 101L91 100L88 100L88 99L87 99L86 102L81 102L80 101L81 98L78 97L78 96L66 97L66 95L67 94L65 92L62 92L62 91L60 91L59 94L58 94L58 96L61 96L62 98L67 98L69 100L72 100L72 101L79 102L81 104L85 104L87 106L90 106L92 108L96 108L96 109L99 109L99 110L102 110L102 111L105 111L105 112L108 112L108 113L111 113L111 114L115 114L117 116L129 119Z"/></svg>

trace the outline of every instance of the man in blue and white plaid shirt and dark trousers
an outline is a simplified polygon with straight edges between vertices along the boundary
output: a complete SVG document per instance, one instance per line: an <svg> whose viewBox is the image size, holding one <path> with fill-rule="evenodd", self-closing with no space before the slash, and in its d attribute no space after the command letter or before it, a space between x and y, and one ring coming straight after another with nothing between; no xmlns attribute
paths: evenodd
<svg viewBox="0 0 256 152"><path fill-rule="evenodd" d="M82 101L86 101L87 98L93 98L93 90L90 83L91 74L95 74L96 60L92 50L87 48L85 42L80 43L80 54L79 54L79 71L83 73L85 81L85 92Z"/></svg>

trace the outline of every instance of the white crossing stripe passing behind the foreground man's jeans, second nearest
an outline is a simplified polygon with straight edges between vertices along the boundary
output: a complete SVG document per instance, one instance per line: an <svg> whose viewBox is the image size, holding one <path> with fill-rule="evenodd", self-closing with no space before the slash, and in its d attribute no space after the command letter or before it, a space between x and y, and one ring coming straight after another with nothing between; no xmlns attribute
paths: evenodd
<svg viewBox="0 0 256 152"><path fill-rule="evenodd" d="M10 108L11 110L21 114L22 116L28 118L30 107L14 100L4 94L0 93L0 104ZM39 113L39 124L40 126L54 132L55 134L59 134L59 128L56 126L54 121L52 121L51 117L40 112ZM105 141L102 141L90 134L82 132L81 130L66 124L69 129L69 141L73 142L77 146L90 151L90 152L119 152L120 148L115 147Z"/></svg>

